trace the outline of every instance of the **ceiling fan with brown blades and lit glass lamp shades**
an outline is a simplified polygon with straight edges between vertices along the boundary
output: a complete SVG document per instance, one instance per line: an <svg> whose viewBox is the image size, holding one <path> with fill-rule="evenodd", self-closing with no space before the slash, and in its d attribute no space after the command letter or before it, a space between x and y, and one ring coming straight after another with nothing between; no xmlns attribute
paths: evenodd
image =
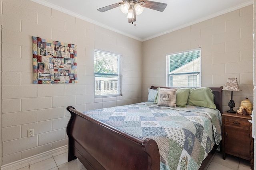
<svg viewBox="0 0 256 170"><path fill-rule="evenodd" d="M167 4L150 0L123 0L123 2L99 8L98 11L105 12L118 6L124 14L127 14L128 22L133 24L136 21L136 14L140 15L144 7L163 12Z"/></svg>

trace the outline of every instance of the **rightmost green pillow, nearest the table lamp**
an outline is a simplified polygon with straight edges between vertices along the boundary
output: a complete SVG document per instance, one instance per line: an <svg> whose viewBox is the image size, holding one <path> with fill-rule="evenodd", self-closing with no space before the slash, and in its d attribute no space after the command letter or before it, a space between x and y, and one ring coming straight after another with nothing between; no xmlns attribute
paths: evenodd
<svg viewBox="0 0 256 170"><path fill-rule="evenodd" d="M216 109L214 94L212 90L207 87L190 89L187 105Z"/></svg>

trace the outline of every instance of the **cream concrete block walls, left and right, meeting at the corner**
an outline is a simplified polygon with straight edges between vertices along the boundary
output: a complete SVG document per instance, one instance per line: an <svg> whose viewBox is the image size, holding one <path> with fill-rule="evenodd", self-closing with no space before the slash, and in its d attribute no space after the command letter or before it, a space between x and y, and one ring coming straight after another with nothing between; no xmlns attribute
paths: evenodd
<svg viewBox="0 0 256 170"><path fill-rule="evenodd" d="M2 164L67 145L68 105L85 111L146 101L147 88L165 86L169 53L202 47L202 86L236 77L236 106L253 101L252 5L140 42L30 0L0 1ZM32 36L78 46L77 84L32 84ZM123 55L123 96L94 98L94 49ZM229 100L224 92L223 110Z"/></svg>

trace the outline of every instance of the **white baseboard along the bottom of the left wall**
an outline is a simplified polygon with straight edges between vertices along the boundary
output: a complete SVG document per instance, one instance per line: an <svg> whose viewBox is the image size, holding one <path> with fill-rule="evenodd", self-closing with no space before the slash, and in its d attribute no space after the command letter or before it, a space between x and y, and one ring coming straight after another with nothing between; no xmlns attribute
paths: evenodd
<svg viewBox="0 0 256 170"><path fill-rule="evenodd" d="M34 156L30 156L30 157L24 158L22 160L17 160L15 162L11 162L9 164L2 165L0 170L13 170L16 167L22 168L22 166L25 167L26 164L28 166L28 162L32 162L36 159L40 159L40 158L43 158L45 156L52 155L54 153L61 152L61 151L64 151L64 150L68 150L68 145L65 145L63 147L59 147L59 148L56 148L56 149L52 149L52 150L49 150L49 151L46 151L46 152L43 152L43 153L40 153L40 154L37 154L37 155L34 155Z"/></svg>

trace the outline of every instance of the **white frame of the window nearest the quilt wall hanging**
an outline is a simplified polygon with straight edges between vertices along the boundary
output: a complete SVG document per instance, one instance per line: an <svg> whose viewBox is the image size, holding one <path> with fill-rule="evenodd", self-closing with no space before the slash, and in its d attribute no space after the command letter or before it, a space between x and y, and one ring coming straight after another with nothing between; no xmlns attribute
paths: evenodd
<svg viewBox="0 0 256 170"><path fill-rule="evenodd" d="M122 55L117 54L117 53L112 53L109 51L103 51L103 50L98 50L94 49L94 63L95 63L95 52L101 53L101 54L108 54L108 55L113 55L117 57L117 64L118 64L118 74L111 74L111 73L95 73L95 64L94 64L94 98L107 98L107 97L114 97L114 96L122 96ZM118 92L116 94L100 94L96 95L96 75L104 75L104 76L117 76L118 82L117 82L117 90ZM104 85L105 86L105 83Z"/></svg>

